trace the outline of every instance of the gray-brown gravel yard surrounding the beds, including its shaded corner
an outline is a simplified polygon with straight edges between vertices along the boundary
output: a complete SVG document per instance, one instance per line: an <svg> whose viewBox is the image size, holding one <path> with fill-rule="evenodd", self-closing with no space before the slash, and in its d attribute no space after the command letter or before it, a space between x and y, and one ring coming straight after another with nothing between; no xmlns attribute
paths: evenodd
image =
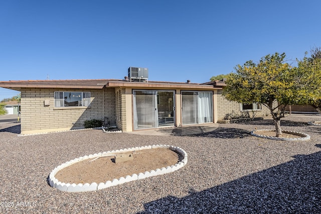
<svg viewBox="0 0 321 214"><path fill-rule="evenodd" d="M320 116L289 116L283 130L309 141L250 135L271 120L220 124L197 136L147 136L81 130L17 136L0 127L1 213L321 213ZM11 126L11 127L10 127ZM8 127L8 128L6 128ZM152 144L183 148L189 162L173 173L106 189L68 193L47 183L58 165L83 155Z"/></svg>

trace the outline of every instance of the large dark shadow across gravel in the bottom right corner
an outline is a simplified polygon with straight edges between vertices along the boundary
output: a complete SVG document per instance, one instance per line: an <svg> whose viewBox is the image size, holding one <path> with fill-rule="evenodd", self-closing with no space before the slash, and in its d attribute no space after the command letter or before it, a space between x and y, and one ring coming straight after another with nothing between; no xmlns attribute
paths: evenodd
<svg viewBox="0 0 321 214"><path fill-rule="evenodd" d="M321 213L321 151L293 158L182 198L145 203L140 213Z"/></svg>

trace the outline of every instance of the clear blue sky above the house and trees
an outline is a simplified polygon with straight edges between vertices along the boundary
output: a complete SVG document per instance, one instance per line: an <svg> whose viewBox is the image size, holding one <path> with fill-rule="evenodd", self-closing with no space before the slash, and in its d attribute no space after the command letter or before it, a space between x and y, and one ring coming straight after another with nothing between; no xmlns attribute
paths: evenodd
<svg viewBox="0 0 321 214"><path fill-rule="evenodd" d="M312 1L0 0L0 81L123 79L194 83L275 52L321 46ZM0 88L0 100L19 92Z"/></svg>

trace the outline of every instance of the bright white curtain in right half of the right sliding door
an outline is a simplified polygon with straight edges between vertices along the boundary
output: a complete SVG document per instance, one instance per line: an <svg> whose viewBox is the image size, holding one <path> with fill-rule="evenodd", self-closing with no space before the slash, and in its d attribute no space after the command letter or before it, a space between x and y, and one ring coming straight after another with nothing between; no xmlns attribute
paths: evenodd
<svg viewBox="0 0 321 214"><path fill-rule="evenodd" d="M199 123L213 122L212 93L198 93L198 118Z"/></svg>

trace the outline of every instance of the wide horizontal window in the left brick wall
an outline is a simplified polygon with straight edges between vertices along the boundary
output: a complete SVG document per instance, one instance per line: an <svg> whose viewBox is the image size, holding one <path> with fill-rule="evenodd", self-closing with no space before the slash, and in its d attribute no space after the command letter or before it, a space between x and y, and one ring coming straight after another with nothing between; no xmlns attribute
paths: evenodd
<svg viewBox="0 0 321 214"><path fill-rule="evenodd" d="M90 92L55 92L55 107L90 106Z"/></svg>

